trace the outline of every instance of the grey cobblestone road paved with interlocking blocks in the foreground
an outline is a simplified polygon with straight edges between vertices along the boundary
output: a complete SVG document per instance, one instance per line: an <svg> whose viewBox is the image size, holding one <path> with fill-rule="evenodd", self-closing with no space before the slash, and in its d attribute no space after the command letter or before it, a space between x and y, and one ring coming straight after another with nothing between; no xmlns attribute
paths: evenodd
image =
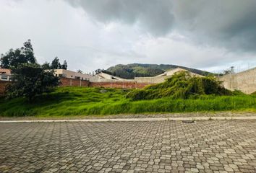
<svg viewBox="0 0 256 173"><path fill-rule="evenodd" d="M0 123L0 172L256 172L256 120Z"/></svg>

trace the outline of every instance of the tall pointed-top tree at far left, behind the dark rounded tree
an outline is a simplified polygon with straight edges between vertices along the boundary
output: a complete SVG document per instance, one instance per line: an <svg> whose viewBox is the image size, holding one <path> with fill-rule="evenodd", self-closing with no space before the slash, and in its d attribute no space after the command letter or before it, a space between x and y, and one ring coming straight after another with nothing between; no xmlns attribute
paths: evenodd
<svg viewBox="0 0 256 173"><path fill-rule="evenodd" d="M17 67L20 63L36 63L31 40L27 40L22 48L10 49L9 52L1 54L1 68Z"/></svg>

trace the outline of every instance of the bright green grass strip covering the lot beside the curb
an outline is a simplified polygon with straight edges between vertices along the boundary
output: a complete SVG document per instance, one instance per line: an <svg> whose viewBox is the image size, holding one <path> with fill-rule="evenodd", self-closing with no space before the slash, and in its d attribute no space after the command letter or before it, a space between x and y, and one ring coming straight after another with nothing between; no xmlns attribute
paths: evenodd
<svg viewBox="0 0 256 173"><path fill-rule="evenodd" d="M255 95L213 96L196 99L126 99L126 90L59 87L29 103L24 98L0 99L0 116L116 115L159 112L256 111Z"/></svg>

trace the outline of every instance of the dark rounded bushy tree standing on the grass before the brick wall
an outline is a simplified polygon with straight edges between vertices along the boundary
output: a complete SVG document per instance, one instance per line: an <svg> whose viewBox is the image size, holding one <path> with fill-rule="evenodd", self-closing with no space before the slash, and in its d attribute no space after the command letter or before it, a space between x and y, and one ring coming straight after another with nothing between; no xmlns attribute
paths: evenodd
<svg viewBox="0 0 256 173"><path fill-rule="evenodd" d="M21 63L12 68L12 83L7 86L7 98L25 97L30 102L43 92L59 85L53 71L45 71L36 63Z"/></svg>

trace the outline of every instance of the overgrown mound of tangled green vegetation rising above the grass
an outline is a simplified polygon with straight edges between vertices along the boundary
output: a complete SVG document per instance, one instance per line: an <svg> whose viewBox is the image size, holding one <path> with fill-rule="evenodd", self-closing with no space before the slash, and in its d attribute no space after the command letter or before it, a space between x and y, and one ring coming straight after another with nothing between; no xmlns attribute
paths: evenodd
<svg viewBox="0 0 256 173"><path fill-rule="evenodd" d="M135 89L129 92L126 97L132 100L159 99L163 97L189 99L209 94L232 95L234 93L221 86L221 81L218 81L213 76L190 76L188 72L184 71L174 74L161 84L146 86L144 89Z"/></svg>

